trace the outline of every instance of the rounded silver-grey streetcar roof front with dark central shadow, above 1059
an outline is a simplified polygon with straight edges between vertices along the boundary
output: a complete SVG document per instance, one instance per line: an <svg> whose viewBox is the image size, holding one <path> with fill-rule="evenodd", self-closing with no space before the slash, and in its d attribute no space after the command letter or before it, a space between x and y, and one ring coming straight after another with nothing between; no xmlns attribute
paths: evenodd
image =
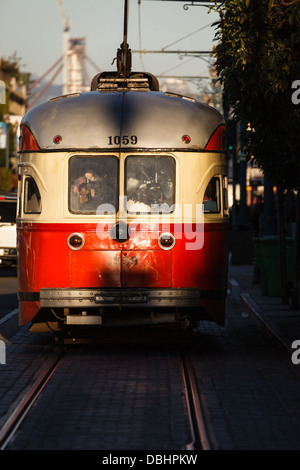
<svg viewBox="0 0 300 470"><path fill-rule="evenodd" d="M128 148L135 142L139 149L198 150L224 119L214 108L181 95L97 90L51 99L28 111L22 124L41 150L114 150L121 136L129 138ZM55 136L61 136L59 142Z"/></svg>

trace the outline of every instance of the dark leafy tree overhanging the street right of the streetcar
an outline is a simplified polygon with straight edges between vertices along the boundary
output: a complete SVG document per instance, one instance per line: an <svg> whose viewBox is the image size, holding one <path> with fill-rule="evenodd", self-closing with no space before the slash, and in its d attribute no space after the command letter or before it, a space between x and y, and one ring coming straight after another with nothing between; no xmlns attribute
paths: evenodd
<svg viewBox="0 0 300 470"><path fill-rule="evenodd" d="M297 191L300 210L300 113L291 99L292 84L300 79L300 0L225 0L214 8L220 15L214 47L218 75L235 118L248 124L243 151L278 189L286 303L284 190Z"/></svg>

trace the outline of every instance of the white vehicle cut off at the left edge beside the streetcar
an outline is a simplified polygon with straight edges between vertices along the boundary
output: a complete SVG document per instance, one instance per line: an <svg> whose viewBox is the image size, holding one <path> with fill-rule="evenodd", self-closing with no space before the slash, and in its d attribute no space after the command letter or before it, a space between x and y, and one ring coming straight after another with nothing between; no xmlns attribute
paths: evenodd
<svg viewBox="0 0 300 470"><path fill-rule="evenodd" d="M0 193L0 266L17 264L17 195Z"/></svg>

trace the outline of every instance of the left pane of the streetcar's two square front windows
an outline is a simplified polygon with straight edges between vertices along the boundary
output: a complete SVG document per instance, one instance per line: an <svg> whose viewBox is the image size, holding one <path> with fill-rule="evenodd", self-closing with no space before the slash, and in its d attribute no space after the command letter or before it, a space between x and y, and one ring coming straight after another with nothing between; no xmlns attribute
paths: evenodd
<svg viewBox="0 0 300 470"><path fill-rule="evenodd" d="M117 157L74 156L69 163L69 209L75 214L113 214L118 199Z"/></svg>

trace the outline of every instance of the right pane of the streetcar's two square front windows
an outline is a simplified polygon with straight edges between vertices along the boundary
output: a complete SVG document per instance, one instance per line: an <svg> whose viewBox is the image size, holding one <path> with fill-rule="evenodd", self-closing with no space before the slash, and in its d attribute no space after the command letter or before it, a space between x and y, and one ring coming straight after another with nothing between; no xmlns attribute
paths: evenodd
<svg viewBox="0 0 300 470"><path fill-rule="evenodd" d="M172 157L130 156L125 169L129 213L174 210L175 162Z"/></svg>

